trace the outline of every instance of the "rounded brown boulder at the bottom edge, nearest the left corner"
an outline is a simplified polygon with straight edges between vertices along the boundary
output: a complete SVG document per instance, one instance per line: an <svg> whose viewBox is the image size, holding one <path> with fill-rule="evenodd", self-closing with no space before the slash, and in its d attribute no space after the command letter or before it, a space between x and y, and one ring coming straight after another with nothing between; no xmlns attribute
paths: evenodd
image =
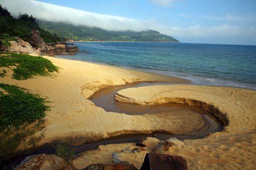
<svg viewBox="0 0 256 170"><path fill-rule="evenodd" d="M28 156L22 161L16 170L78 170L73 165L67 166L64 159L56 155L38 154Z"/></svg>

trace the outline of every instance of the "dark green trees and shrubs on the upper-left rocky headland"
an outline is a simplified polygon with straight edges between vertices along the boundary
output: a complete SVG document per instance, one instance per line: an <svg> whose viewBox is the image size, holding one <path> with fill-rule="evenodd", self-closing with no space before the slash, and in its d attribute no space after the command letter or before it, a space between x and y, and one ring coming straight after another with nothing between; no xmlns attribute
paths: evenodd
<svg viewBox="0 0 256 170"><path fill-rule="evenodd" d="M44 39L46 43L53 43L63 41L62 37L53 35L48 31L41 29L36 18L28 14L20 14L19 19L13 18L6 8L0 5L0 33L8 34L11 37L17 36L24 41L31 41L30 31L39 30L40 37Z"/></svg>

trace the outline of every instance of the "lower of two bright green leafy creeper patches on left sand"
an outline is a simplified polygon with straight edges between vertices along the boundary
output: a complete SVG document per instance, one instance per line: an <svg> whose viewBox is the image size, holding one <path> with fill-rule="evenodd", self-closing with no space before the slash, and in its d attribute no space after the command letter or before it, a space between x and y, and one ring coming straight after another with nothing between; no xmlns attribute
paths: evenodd
<svg viewBox="0 0 256 170"><path fill-rule="evenodd" d="M0 133L6 128L19 127L24 123L30 124L36 119L45 117L45 99L28 92L24 88L0 84Z"/></svg>

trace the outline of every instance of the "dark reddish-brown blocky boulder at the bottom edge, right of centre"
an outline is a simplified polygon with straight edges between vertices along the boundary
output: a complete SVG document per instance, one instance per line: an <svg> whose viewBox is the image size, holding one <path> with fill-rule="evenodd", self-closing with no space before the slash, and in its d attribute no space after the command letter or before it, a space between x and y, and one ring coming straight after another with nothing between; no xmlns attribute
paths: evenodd
<svg viewBox="0 0 256 170"><path fill-rule="evenodd" d="M147 153L140 170L188 170L187 161L181 156Z"/></svg>

